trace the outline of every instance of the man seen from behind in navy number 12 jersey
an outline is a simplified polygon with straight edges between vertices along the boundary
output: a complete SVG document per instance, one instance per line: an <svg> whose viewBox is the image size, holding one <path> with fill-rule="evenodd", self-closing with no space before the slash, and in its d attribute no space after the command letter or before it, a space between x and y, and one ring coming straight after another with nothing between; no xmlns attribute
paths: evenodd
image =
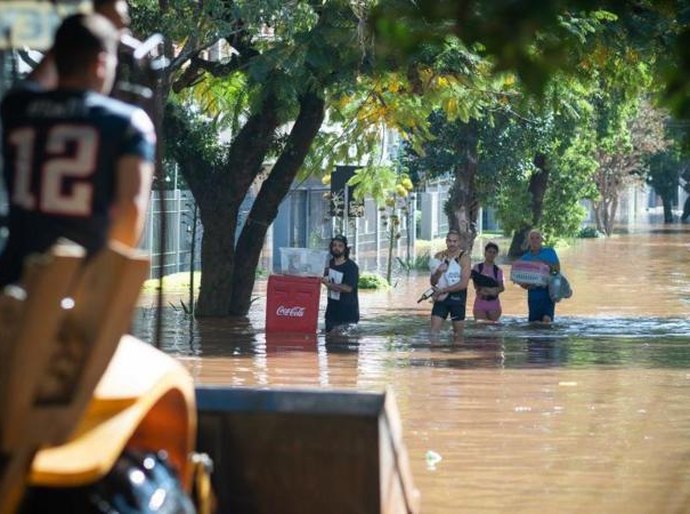
<svg viewBox="0 0 690 514"><path fill-rule="evenodd" d="M57 88L27 81L0 106L9 239L0 286L60 237L89 255L113 240L135 246L148 204L155 133L143 110L107 95L116 28L103 16L66 19L53 48Z"/></svg>

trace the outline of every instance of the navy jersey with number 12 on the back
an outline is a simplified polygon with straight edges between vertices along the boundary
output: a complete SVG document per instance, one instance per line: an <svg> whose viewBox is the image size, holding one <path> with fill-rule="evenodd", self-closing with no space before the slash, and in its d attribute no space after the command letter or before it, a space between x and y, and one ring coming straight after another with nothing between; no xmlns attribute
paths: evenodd
<svg viewBox="0 0 690 514"><path fill-rule="evenodd" d="M69 238L89 254L104 246L121 157L153 161L153 123L141 109L83 90L43 91L31 83L0 107L10 237L0 285L21 262Z"/></svg>

